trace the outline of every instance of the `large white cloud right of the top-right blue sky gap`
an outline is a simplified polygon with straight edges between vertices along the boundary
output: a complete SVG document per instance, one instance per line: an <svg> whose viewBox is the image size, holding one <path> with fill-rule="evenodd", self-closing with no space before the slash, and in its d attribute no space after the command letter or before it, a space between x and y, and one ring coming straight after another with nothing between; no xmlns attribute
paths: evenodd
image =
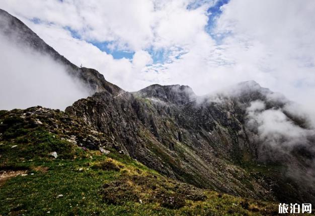
<svg viewBox="0 0 315 216"><path fill-rule="evenodd" d="M315 3L230 1L222 7L217 33L224 52L260 84L305 102L315 88Z"/></svg>

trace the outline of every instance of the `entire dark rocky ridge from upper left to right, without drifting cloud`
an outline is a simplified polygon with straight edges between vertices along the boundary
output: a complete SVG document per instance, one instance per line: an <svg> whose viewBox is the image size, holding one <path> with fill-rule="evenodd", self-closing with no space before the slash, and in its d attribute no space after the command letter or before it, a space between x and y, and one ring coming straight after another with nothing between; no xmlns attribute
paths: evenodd
<svg viewBox="0 0 315 216"><path fill-rule="evenodd" d="M23 46L50 55L96 92L74 102L65 114L33 107L6 115L23 119L25 114L28 121L42 123L73 145L114 148L162 174L199 187L250 198L315 203L315 178L310 171L315 138L306 121L283 112L290 126L307 132L305 145L286 151L265 145L259 128L248 125L252 102L262 101L260 109L277 111L288 102L283 96L255 81L203 97L181 85L155 84L125 92L98 71L70 63L3 10L0 29ZM296 173L299 175L294 176Z"/></svg>

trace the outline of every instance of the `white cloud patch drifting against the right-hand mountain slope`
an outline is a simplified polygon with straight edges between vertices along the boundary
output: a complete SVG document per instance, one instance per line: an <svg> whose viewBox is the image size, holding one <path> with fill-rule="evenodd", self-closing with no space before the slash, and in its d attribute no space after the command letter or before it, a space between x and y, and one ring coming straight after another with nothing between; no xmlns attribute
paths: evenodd
<svg viewBox="0 0 315 216"><path fill-rule="evenodd" d="M315 131L300 126L300 122L307 120L305 117L298 104L289 102L282 109L266 109L265 102L256 100L247 108L246 127L258 136L260 161L280 161L287 176L302 182L302 187L313 187Z"/></svg>

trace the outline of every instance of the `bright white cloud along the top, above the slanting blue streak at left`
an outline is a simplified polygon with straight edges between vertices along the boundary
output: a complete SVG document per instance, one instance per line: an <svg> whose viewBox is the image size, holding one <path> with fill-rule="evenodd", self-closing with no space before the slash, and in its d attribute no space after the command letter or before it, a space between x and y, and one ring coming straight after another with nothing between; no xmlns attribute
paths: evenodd
<svg viewBox="0 0 315 216"><path fill-rule="evenodd" d="M190 1L3 1L1 7L23 20L68 27L86 41L109 41L119 49L140 50L186 44L203 31L205 7ZM210 3L203 5L209 6ZM32 11L27 12L31 7Z"/></svg>

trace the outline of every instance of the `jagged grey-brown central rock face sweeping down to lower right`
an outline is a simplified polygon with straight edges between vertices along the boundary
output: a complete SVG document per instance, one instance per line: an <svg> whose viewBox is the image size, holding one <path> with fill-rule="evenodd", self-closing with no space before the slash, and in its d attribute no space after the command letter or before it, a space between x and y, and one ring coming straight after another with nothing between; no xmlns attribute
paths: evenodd
<svg viewBox="0 0 315 216"><path fill-rule="evenodd" d="M313 200L313 192L306 192L309 185L298 186L286 175L289 165L306 166L298 161L303 154L281 155L246 125L251 101L276 109L285 99L272 99L275 93L253 81L235 89L237 94L222 93L216 100L179 85L152 85L118 96L100 92L76 101L66 113L113 137L117 150L167 176L252 198Z"/></svg>

